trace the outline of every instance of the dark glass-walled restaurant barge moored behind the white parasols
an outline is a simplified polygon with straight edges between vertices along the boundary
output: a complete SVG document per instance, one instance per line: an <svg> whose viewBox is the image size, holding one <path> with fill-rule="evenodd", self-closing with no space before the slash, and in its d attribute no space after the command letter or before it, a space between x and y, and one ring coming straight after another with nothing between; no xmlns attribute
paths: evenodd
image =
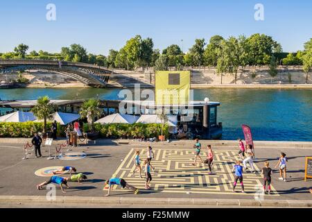
<svg viewBox="0 0 312 222"><path fill-rule="evenodd" d="M78 113L85 99L76 100L51 100L58 112ZM128 114L135 114L139 108L139 114L155 114L155 101L120 101L120 100L100 100L100 108L103 108L103 117L108 114L119 113L119 104L123 102ZM36 100L29 101L0 101L1 114L8 114L17 110L30 111L36 105ZM187 139L199 137L200 139L220 139L222 137L223 126L217 121L217 110L220 103L208 101L190 101L187 106L180 108L177 105L164 105L168 110L168 116L175 117L176 128L173 130L173 138L180 131L181 135L186 135ZM4 111L4 112L3 112ZM179 130L178 130L179 129ZM179 134L180 134L179 133ZM179 135L177 135L178 137Z"/></svg>

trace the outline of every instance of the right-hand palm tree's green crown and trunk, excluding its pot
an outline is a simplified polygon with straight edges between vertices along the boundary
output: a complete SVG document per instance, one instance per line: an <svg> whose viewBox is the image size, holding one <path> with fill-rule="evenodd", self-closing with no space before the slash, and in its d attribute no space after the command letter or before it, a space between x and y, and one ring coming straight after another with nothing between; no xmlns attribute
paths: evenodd
<svg viewBox="0 0 312 222"><path fill-rule="evenodd" d="M89 99L85 101L81 106L80 116L87 118L90 128L93 130L94 119L101 117L102 110L98 108L100 102L97 99Z"/></svg>

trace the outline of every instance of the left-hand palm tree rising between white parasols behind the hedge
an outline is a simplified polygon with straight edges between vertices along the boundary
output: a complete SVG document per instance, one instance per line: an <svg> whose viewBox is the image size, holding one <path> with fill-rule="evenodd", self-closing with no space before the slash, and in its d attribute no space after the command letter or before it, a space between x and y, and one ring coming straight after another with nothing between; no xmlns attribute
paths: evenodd
<svg viewBox="0 0 312 222"><path fill-rule="evenodd" d="M46 119L50 119L51 114L55 112L55 106L50 103L48 96L42 96L37 99L37 105L31 109L31 112L37 117L37 119L44 121L43 133L46 132Z"/></svg>

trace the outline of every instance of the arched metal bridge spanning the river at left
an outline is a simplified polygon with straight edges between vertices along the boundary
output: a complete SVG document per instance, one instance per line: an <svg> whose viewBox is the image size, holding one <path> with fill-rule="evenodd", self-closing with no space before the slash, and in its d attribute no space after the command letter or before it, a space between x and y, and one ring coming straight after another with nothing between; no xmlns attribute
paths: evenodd
<svg viewBox="0 0 312 222"><path fill-rule="evenodd" d="M82 62L56 60L0 60L0 74L24 70L62 74L92 87L105 87L112 71L105 67Z"/></svg>

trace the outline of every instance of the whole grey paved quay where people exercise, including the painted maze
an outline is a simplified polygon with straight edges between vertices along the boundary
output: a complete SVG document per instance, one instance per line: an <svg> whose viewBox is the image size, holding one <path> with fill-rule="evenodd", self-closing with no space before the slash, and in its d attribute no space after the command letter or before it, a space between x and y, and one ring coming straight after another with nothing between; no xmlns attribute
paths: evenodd
<svg viewBox="0 0 312 222"><path fill-rule="evenodd" d="M62 194L57 187L56 200L58 203L71 205L74 203L96 205L110 200L119 207L133 205L192 205L192 206L261 206L261 207L311 207L312 180L304 181L304 159L312 155L312 142L254 142L256 159L254 160L257 173L244 173L245 194L241 187L232 192L234 174L232 164L239 157L236 141L200 141L202 157L211 144L214 153L214 175L209 176L207 167L200 162L194 167L193 141L181 140L167 142L137 142L132 140L101 139L96 144L62 150L60 158L46 160L49 155L48 146L42 147L42 158L34 158L28 154L28 160L21 160L23 147L30 139L0 139L2 155L0 155L0 203L19 205L19 203L44 203L47 190L37 190L36 185L49 180L44 172L54 167L73 166L78 172L87 174L87 181L82 185L69 182L70 189ZM55 146L64 142L53 142L51 153ZM146 146L153 146L156 167L152 172L151 190L144 189L145 179L132 174L135 150L141 151L141 159L146 157ZM288 181L278 180L279 173L274 169L279 153L284 152L288 157ZM33 153L30 148L30 153ZM262 178L259 173L263 162L269 161L274 169L272 177L272 194L262 195ZM43 170L42 170L43 169ZM36 174L35 174L36 172ZM39 172L39 173L38 173ZM143 174L143 173L142 173ZM62 176L69 176L64 174ZM118 176L140 189L138 195L128 189L114 187L112 196L104 197L107 189L104 182L107 178ZM39 201L39 202L38 202ZM41 201L41 202L40 202ZM76 201L76 202L75 202ZM95 202L94 202L95 201ZM98 203L96 203L98 201ZM115 203L116 202L116 203ZM49 203L47 201L46 203ZM55 202L53 202L55 203ZM47 205L48 207L49 205ZM0 206L1 207L1 206Z"/></svg>

